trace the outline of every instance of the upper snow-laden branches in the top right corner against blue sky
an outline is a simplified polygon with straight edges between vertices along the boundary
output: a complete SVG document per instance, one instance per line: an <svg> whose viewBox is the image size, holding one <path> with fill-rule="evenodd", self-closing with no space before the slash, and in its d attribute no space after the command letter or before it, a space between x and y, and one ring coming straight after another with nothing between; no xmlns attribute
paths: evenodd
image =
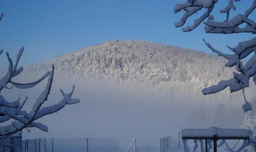
<svg viewBox="0 0 256 152"><path fill-rule="evenodd" d="M235 0L239 1L239 0ZM256 0L254 0L251 7L245 12L245 14L238 14L237 16L229 19L229 14L231 9L236 10L236 6L233 3L233 0L229 0L228 5L220 10L220 13L226 13L226 20L222 22L214 21L213 15L211 15L212 10L214 9L215 3L218 0L187 0L184 3L176 4L174 8L174 12L177 13L179 11L184 11L184 14L179 22L175 23L176 27L182 27L185 25L187 19L191 17L193 14L196 14L202 8L206 9L205 12L197 19L194 20L194 24L192 26L188 26L183 28L183 32L189 32L199 26L206 18L208 20L203 22L206 26L204 28L206 33L222 33L222 34L230 34L230 33L256 33L256 23L254 20L249 19L250 14L256 8ZM246 27L240 28L239 25L247 24Z"/></svg>

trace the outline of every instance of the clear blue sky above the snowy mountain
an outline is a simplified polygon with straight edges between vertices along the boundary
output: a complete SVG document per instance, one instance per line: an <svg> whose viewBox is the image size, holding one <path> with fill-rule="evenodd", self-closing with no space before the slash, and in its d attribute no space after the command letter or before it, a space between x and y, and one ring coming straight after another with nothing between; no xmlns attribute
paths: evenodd
<svg viewBox="0 0 256 152"><path fill-rule="evenodd" d="M203 26L183 33L174 27L182 13L173 11L175 4L182 1L1 0L0 12L4 16L0 21L0 48L15 56L24 46L21 63L28 65L113 39L145 40L210 53L202 38L227 51L227 44L235 47L239 41L254 37L205 34ZM238 12L244 12L252 1L236 2ZM226 3L219 0L217 11ZM216 13L216 17L222 21L225 14ZM0 65L3 59L1 55Z"/></svg>

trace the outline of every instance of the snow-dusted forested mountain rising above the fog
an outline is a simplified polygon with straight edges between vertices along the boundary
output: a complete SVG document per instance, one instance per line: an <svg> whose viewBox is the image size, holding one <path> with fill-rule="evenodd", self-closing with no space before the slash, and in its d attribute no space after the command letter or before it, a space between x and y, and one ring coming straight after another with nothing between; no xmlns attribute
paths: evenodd
<svg viewBox="0 0 256 152"><path fill-rule="evenodd" d="M35 78L54 63L57 80L104 82L136 88L146 85L146 88L169 88L179 93L202 96L204 87L232 77L234 69L225 68L225 62L224 58L200 51L145 41L114 40L31 65L23 75ZM216 97L220 95L226 95L225 100L237 100L230 96L228 89ZM242 100L240 97L238 99Z"/></svg>

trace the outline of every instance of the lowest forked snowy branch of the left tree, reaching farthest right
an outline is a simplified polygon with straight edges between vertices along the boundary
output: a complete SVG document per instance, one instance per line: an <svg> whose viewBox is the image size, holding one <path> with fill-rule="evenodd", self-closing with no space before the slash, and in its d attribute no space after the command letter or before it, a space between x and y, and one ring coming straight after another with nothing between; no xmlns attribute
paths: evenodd
<svg viewBox="0 0 256 152"><path fill-rule="evenodd" d="M52 79L49 78L49 81L52 83ZM49 84L46 86L46 88L49 87ZM47 98L45 98L47 95L48 89L46 89L41 95L42 97L42 104L35 104L37 106L34 106L33 110L31 110L30 113L27 113L26 111L21 111L17 109L17 111L13 110L6 110L5 113L16 120L16 122L12 122L12 124L9 124L7 126L0 127L0 139L6 138L9 135L21 131L24 128L29 128L29 127L36 127L41 129L42 131L48 131L48 127L45 126L42 123L35 122L37 119L48 115L52 114L54 112L58 112L62 108L64 108L65 105L67 104L75 104L80 102L79 99L72 99L72 94L73 94L74 86L72 91L69 94L64 94L64 92L61 90L64 98L57 104L51 105L51 106L46 106L43 107L42 109L38 108L40 107L45 101L47 101ZM39 102L38 102L39 103ZM38 109L38 110L37 110ZM36 111L35 111L36 110Z"/></svg>

